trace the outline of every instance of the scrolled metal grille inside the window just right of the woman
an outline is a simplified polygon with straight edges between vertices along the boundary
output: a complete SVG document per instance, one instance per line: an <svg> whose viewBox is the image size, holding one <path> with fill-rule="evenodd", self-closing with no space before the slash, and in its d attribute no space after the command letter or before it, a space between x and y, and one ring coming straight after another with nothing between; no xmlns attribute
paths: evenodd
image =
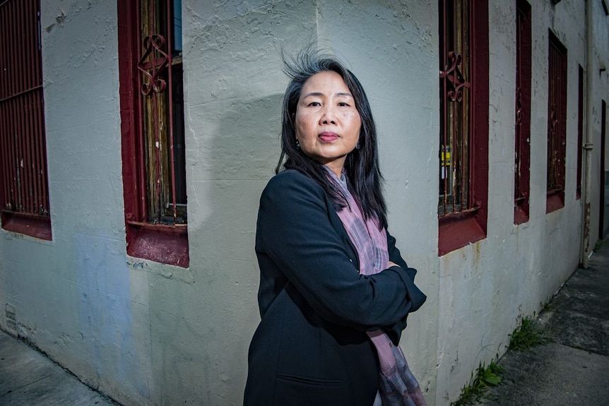
<svg viewBox="0 0 609 406"><path fill-rule="evenodd" d="M471 0L441 0L439 217L475 210L471 189Z"/></svg>

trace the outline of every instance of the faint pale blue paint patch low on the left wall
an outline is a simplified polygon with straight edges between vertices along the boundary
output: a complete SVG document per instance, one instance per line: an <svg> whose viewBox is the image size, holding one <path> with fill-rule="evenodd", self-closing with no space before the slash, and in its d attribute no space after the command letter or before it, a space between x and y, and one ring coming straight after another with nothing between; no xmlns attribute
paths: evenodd
<svg viewBox="0 0 609 406"><path fill-rule="evenodd" d="M134 338L129 267L125 265L124 241L77 234L74 256L78 272L78 321L80 333L89 347L88 363L98 377L135 386L148 395ZM142 264L143 267L143 264ZM139 350L146 351L144 348Z"/></svg>

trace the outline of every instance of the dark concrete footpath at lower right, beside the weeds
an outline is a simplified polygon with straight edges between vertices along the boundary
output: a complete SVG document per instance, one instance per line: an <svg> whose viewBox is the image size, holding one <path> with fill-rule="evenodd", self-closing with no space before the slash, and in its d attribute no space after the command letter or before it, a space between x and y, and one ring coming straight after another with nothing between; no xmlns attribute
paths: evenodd
<svg viewBox="0 0 609 406"><path fill-rule="evenodd" d="M509 351L485 406L609 405L609 239L535 321L550 344Z"/></svg>

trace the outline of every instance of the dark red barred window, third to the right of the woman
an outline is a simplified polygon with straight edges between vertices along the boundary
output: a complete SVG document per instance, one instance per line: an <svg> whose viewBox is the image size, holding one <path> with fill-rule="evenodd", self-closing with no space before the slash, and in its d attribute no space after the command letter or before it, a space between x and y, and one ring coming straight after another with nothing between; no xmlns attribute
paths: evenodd
<svg viewBox="0 0 609 406"><path fill-rule="evenodd" d="M545 213L564 206L567 128L567 49L550 31L548 57L548 171Z"/></svg>

